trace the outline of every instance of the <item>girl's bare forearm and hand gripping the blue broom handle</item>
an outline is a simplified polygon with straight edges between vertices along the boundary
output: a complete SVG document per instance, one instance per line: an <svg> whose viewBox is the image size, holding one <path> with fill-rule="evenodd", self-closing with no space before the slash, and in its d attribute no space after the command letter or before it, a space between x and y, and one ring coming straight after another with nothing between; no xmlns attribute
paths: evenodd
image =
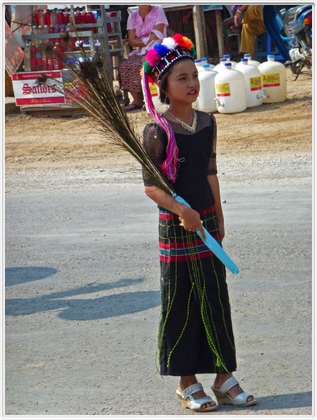
<svg viewBox="0 0 317 420"><path fill-rule="evenodd" d="M145 186L145 194L159 206L172 211L174 214L178 214L179 220L181 221L180 225L183 226L186 231L196 232L196 230L199 229L203 238L205 238L198 211L177 202L173 197L157 187Z"/></svg>

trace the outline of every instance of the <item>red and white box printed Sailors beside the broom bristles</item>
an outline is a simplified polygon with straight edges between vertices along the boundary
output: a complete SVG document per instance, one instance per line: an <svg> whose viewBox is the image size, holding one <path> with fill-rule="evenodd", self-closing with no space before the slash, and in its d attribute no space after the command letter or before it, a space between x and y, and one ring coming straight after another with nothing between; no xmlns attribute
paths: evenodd
<svg viewBox="0 0 317 420"><path fill-rule="evenodd" d="M47 76L50 86L39 84L37 79ZM61 71L30 71L12 74L12 83L16 105L49 105L65 103L63 93L56 91L56 86L63 86Z"/></svg>

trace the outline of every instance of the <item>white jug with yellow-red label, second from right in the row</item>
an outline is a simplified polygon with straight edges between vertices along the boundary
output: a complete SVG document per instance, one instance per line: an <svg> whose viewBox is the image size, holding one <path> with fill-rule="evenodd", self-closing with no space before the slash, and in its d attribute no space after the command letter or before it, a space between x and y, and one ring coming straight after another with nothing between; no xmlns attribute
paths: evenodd
<svg viewBox="0 0 317 420"><path fill-rule="evenodd" d="M260 71L249 65L248 59L241 59L236 70L244 75L244 84L246 86L246 107L258 107L262 105L265 97L262 90L262 81Z"/></svg>

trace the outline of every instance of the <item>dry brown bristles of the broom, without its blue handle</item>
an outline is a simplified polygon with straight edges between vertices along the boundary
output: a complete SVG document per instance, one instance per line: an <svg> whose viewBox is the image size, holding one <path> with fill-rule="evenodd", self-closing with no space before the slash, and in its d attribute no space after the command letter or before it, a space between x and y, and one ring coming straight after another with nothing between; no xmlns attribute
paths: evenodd
<svg viewBox="0 0 317 420"><path fill-rule="evenodd" d="M63 35L63 41L69 42L69 34ZM64 64L71 79L67 82L68 88L54 78L47 78L44 73L37 78L37 83L54 86L56 91L78 104L91 117L95 129L102 134L102 140L131 153L146 170L152 184L172 195L174 191L167 177L152 163L132 119L119 104L100 54L96 52L90 57L90 52L84 49L82 43L79 43L79 50L80 59L73 64ZM52 54L57 61L61 60L53 50L47 51L47 54Z"/></svg>

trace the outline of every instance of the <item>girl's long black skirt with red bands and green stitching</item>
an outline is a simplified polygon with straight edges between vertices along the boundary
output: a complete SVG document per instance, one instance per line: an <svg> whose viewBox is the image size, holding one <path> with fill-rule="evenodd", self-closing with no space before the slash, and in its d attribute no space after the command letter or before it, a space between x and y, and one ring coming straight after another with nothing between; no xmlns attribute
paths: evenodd
<svg viewBox="0 0 317 420"><path fill-rule="evenodd" d="M160 374L233 372L237 361L225 266L196 233L179 226L176 214L159 209ZM199 213L220 243L215 208Z"/></svg>

